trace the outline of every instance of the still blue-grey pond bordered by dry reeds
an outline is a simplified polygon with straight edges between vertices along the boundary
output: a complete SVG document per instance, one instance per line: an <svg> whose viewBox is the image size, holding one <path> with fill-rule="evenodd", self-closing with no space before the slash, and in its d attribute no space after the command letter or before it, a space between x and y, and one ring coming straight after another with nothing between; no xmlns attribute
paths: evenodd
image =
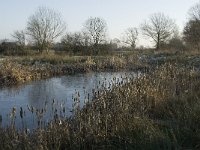
<svg viewBox="0 0 200 150"><path fill-rule="evenodd" d="M101 90L128 82L140 72L101 72L54 77L0 90L0 126L45 127L55 118L73 115Z"/></svg>

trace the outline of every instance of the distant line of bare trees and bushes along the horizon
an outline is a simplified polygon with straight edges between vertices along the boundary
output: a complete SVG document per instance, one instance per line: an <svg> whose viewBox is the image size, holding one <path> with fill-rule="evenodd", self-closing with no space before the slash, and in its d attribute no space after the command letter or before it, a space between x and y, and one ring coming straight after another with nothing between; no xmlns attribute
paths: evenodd
<svg viewBox="0 0 200 150"><path fill-rule="evenodd" d="M103 18L90 17L79 32L66 32L66 24L53 9L39 7L27 21L24 30L16 30L10 40L0 41L0 53L23 55L54 50L68 54L99 55L114 50L143 49L138 47L141 33L157 50L200 50L200 2L189 10L189 19L179 32L175 21L163 13L154 13L139 28L129 27L122 37L108 40L108 27ZM60 38L59 42L56 39Z"/></svg>

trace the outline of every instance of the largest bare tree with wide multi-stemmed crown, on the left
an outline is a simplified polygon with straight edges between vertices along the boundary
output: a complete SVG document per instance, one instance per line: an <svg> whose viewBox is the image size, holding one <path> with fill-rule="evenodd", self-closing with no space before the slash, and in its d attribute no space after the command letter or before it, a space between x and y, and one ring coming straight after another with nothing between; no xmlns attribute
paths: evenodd
<svg viewBox="0 0 200 150"><path fill-rule="evenodd" d="M46 7L39 7L27 23L27 34L41 52L44 49L48 50L65 29L60 14Z"/></svg>

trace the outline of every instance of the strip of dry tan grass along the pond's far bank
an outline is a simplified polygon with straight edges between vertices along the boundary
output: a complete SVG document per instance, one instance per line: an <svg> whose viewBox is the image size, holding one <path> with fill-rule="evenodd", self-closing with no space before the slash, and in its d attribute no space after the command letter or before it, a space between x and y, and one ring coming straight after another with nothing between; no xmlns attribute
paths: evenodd
<svg viewBox="0 0 200 150"><path fill-rule="evenodd" d="M15 85L24 82L89 71L118 71L143 68L135 56L62 56L40 54L22 57L5 57L0 62L1 85Z"/></svg>

